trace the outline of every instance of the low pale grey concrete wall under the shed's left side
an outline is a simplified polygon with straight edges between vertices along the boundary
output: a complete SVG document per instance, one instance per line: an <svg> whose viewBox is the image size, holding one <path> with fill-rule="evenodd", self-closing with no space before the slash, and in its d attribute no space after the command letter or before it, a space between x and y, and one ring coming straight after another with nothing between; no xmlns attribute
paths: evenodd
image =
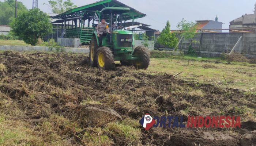
<svg viewBox="0 0 256 146"><path fill-rule="evenodd" d="M57 43L64 47L78 47L80 46L79 38L58 38Z"/></svg>

